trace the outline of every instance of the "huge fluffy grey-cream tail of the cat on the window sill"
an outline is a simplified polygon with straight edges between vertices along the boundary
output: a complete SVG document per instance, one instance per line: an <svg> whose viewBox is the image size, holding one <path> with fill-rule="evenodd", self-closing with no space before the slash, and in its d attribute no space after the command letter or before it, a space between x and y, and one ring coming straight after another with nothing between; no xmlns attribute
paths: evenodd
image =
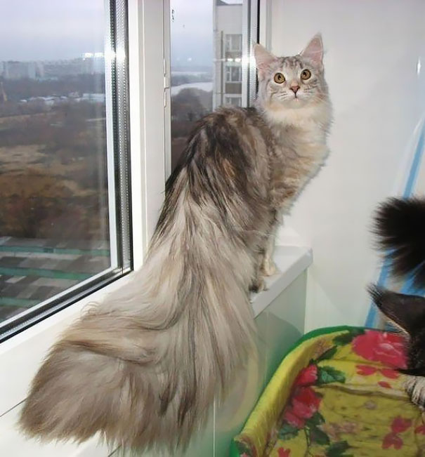
<svg viewBox="0 0 425 457"><path fill-rule="evenodd" d="M246 362L252 259L213 205L201 211L190 198L183 190L171 202L172 218L160 220L124 293L93 306L54 345L22 410L28 435L81 442L100 432L133 448L184 446Z"/></svg>

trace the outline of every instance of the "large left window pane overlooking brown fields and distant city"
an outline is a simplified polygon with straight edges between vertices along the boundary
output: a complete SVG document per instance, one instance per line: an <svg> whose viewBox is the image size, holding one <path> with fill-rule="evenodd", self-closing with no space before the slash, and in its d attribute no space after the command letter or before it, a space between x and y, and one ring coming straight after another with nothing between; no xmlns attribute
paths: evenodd
<svg viewBox="0 0 425 457"><path fill-rule="evenodd" d="M0 338L131 269L125 7L2 11Z"/></svg>

